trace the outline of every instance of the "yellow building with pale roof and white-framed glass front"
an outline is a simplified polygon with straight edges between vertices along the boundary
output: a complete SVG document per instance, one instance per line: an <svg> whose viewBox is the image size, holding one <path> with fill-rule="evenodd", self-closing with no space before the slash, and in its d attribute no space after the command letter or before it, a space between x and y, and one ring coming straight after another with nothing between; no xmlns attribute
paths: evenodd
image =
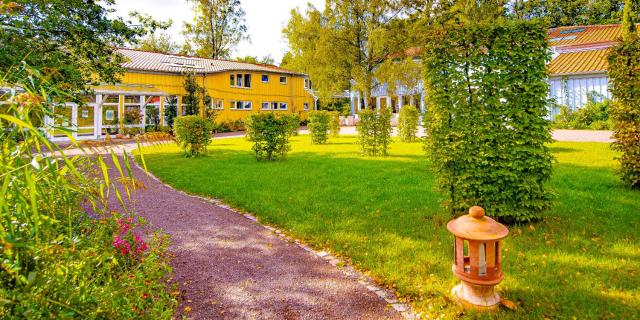
<svg viewBox="0 0 640 320"><path fill-rule="evenodd" d="M72 128L77 139L99 139L118 128L144 128L149 123L146 110L159 111L165 124L164 110L172 105L184 114L185 73L194 73L206 91L205 109L217 111L217 122L243 120L258 112L295 113L303 119L315 109L309 78L272 65L196 58L132 49L119 49L127 58L121 83L95 87L85 105L68 103L56 107L58 119L49 125ZM137 113L140 123L125 122L125 115ZM54 123L55 122L55 123ZM52 140L64 140L63 132L50 133Z"/></svg>

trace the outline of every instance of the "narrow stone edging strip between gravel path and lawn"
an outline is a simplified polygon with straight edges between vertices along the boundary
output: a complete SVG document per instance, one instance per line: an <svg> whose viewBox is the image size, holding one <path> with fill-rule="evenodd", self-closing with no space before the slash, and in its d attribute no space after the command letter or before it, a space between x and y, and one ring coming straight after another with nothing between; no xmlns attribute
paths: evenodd
<svg viewBox="0 0 640 320"><path fill-rule="evenodd" d="M324 250L316 250L314 248L312 248L311 246L309 246L308 244L304 243L303 241L294 238L293 236L285 233L284 231L275 228L273 226L270 225L266 225L261 223L258 218L250 213L247 212L242 212L239 209L233 208L230 205L226 204L224 201L220 200L220 199L215 199L215 198L209 198L209 197L205 197L205 196L201 196L201 195L197 195L197 194L191 194L188 193L186 191L183 190L179 190L174 188L173 186L171 186L170 184L165 183L164 181L162 181L161 179L159 179L158 177L156 177L153 173L151 173L148 170L145 170L143 167L140 166L140 164L138 163L138 159L136 158L136 160L134 161L134 165L136 167L138 167L138 169L142 170L143 172L145 172L145 174L157 181L158 183L171 188L172 190L181 193L183 195L186 195L188 197L192 197L195 199L199 199L205 202L209 202L212 203L222 209L228 210L230 212L233 212L235 214L241 215L243 216L245 219L247 220L251 220L253 223L256 223L260 226L262 226L263 228L275 233L278 237L282 238L282 240L285 240L289 243L293 243L296 246L300 247L301 249L303 249L304 251L315 255L317 257L319 257L320 259L324 260L325 262L331 264L334 268L336 268L338 271L340 271L341 273L345 274L348 278L353 279L353 280L357 280L358 283L360 283L362 286L364 286L367 290L373 292L376 296L378 296L379 299L383 300L386 302L387 306L389 308L394 309L396 312L398 312L404 319L407 320L412 320L412 319L420 319L421 318L421 314L420 313L415 313L413 311L413 308L410 304L408 303L402 303L400 302L400 300L398 299L398 297L400 295L398 295L398 293L395 290L390 290L390 289L384 289L382 288L372 277L364 274L363 272L360 272L357 270L357 267L355 265L353 265L352 263L350 263L347 260L341 259L340 257L337 257L335 254L332 254L329 250L324 249Z"/></svg>

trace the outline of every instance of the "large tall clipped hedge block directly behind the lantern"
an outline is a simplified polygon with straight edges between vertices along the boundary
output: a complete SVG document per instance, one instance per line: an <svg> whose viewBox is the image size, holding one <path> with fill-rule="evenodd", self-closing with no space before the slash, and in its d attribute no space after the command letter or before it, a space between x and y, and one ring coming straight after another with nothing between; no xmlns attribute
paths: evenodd
<svg viewBox="0 0 640 320"><path fill-rule="evenodd" d="M524 222L551 205L546 37L541 23L500 20L429 38L426 149L452 214L480 205Z"/></svg>

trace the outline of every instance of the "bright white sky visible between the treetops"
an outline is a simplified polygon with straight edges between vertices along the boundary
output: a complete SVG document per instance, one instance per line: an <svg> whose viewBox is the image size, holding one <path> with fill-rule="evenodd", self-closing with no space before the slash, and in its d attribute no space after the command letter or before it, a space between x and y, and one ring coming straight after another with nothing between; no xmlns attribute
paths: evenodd
<svg viewBox="0 0 640 320"><path fill-rule="evenodd" d="M193 20L192 5L186 0L116 0L116 15L128 17L131 11L139 11L153 16L156 20L173 20L168 30L174 41L181 43L182 23ZM242 8L247 13L247 28L251 42L241 43L234 57L271 55L280 63L287 51L282 39L282 28L289 20L291 9L304 10L307 3L316 8L324 8L325 0L242 0Z"/></svg>

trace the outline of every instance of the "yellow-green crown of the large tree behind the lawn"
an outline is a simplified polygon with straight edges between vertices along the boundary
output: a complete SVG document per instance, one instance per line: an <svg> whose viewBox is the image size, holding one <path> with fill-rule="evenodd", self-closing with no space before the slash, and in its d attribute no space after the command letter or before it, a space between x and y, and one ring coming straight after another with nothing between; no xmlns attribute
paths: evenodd
<svg viewBox="0 0 640 320"><path fill-rule="evenodd" d="M304 13L295 9L283 30L291 50L282 66L309 74L322 100L352 87L367 98L379 66L398 48L418 44L423 32L415 29L421 21L415 15L430 8L413 0L329 0L322 11L311 5Z"/></svg>

